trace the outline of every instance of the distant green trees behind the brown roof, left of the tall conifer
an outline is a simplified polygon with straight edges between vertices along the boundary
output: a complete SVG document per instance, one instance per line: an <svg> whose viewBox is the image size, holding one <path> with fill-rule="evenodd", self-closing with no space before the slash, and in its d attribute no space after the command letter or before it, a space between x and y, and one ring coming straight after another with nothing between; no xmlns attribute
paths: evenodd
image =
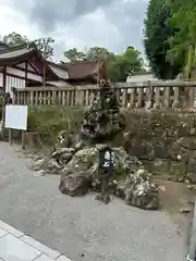
<svg viewBox="0 0 196 261"><path fill-rule="evenodd" d="M144 62L140 53L133 47L127 47L121 54L114 54L101 47L91 47L86 52L81 52L76 48L73 48L66 50L64 57L70 61L105 60L109 78L114 83L125 82L131 73L144 71Z"/></svg>

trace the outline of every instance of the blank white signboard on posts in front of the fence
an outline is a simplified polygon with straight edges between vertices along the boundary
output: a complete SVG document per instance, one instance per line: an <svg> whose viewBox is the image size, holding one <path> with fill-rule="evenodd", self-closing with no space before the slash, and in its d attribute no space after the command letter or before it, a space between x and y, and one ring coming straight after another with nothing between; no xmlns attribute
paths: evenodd
<svg viewBox="0 0 196 261"><path fill-rule="evenodd" d="M27 105L5 105L5 128L27 129Z"/></svg>

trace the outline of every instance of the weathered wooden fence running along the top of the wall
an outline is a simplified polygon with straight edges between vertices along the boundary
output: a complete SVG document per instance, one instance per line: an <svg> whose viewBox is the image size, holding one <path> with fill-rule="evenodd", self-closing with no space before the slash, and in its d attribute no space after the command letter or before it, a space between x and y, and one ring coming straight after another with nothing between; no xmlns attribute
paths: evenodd
<svg viewBox="0 0 196 261"><path fill-rule="evenodd" d="M193 108L196 104L196 82L155 82L113 86L124 108ZM26 87L14 91L15 104L90 105L98 86Z"/></svg>

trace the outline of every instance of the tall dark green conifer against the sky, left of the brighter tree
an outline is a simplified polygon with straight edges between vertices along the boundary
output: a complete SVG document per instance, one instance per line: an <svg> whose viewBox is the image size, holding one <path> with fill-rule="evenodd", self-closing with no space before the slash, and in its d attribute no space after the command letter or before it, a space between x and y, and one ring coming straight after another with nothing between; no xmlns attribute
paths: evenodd
<svg viewBox="0 0 196 261"><path fill-rule="evenodd" d="M181 70L181 62L168 59L169 39L175 34L169 25L171 8L167 0L149 0L144 30L144 45L152 73L161 79L174 78Z"/></svg>

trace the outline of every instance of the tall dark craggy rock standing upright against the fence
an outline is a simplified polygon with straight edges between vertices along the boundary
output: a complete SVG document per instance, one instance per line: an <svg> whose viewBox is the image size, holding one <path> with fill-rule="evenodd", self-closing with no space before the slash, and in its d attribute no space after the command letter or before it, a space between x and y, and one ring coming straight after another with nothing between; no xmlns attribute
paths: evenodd
<svg viewBox="0 0 196 261"><path fill-rule="evenodd" d="M117 134L124 129L124 123L114 89L102 82L91 105L86 109L81 138L87 145L113 140Z"/></svg>

